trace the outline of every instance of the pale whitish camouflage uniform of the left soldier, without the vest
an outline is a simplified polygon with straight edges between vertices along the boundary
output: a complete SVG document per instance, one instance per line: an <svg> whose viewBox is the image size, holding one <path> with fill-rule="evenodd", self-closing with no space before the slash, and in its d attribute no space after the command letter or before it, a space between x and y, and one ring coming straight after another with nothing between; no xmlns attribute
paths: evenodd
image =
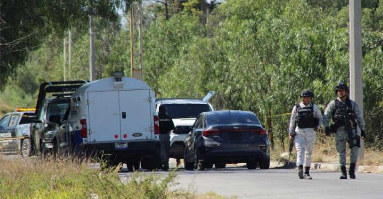
<svg viewBox="0 0 383 199"><path fill-rule="evenodd" d="M322 124L322 113L319 110L318 106L313 103L307 104L307 106L303 103L299 103L300 107L310 107L314 106L314 116L318 118L319 124L316 128L319 128ZM290 118L290 127L289 127L289 133L293 132L293 128L295 126L296 121L296 106L293 107L293 110L291 112L291 118ZM316 139L316 132L314 128L299 128L298 125L296 125L295 128L295 148L297 150L297 166L303 165L304 167L310 167L311 165L311 155L313 152L313 146Z"/></svg>

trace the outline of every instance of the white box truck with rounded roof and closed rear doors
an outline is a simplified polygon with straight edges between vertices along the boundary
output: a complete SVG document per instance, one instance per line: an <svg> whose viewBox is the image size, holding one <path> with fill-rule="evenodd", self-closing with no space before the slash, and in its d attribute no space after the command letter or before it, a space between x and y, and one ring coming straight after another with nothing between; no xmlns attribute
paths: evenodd
<svg viewBox="0 0 383 199"><path fill-rule="evenodd" d="M87 83L72 95L56 136L60 153L103 155L130 171L160 168L155 95L146 83L122 75Z"/></svg>

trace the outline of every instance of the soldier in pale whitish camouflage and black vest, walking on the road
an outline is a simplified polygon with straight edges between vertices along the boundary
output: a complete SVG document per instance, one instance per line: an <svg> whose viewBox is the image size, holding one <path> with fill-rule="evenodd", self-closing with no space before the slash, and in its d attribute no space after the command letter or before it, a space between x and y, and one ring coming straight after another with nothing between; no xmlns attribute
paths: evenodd
<svg viewBox="0 0 383 199"><path fill-rule="evenodd" d="M316 131L322 123L322 113L317 104L312 103L314 93L310 90L303 90L301 95L302 102L296 104L291 111L289 139L295 141L297 150L297 166L299 179L309 179L311 155L316 139ZM295 139L292 137L295 133ZM305 172L303 174L303 166Z"/></svg>

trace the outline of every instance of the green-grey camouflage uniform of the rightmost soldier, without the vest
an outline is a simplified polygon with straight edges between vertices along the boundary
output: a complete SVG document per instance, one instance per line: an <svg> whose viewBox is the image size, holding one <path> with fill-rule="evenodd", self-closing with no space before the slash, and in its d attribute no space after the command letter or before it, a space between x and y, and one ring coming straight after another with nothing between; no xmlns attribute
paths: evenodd
<svg viewBox="0 0 383 199"><path fill-rule="evenodd" d="M337 100L341 101L340 98L337 98ZM352 110L355 113L355 119L359 125L359 128L361 130L365 130L365 120L363 119L362 112L359 110L358 104L355 101L351 100L351 105L352 105ZM325 127L329 126L329 121L333 113L335 112L335 108L336 108L335 100L330 101L330 103L326 107L324 117L323 117L323 125ZM353 137L355 137L356 136L355 128L353 128L352 132L354 134ZM341 167L345 167L346 166L346 142L349 141L349 136L345 129L345 126L341 126L337 129L335 133L335 141L336 141L336 148L338 151L339 164L341 165ZM359 147L355 145L356 140L353 139L353 141L354 141L354 147L351 148L350 162L357 163Z"/></svg>

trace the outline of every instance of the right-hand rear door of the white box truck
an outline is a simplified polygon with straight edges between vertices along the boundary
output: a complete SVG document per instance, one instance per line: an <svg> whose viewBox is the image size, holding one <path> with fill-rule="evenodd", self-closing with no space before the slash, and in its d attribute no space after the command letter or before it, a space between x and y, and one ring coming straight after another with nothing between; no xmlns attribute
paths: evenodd
<svg viewBox="0 0 383 199"><path fill-rule="evenodd" d="M120 91L119 95L122 140L152 139L154 110L153 102L149 101L150 91Z"/></svg>

